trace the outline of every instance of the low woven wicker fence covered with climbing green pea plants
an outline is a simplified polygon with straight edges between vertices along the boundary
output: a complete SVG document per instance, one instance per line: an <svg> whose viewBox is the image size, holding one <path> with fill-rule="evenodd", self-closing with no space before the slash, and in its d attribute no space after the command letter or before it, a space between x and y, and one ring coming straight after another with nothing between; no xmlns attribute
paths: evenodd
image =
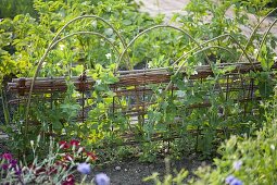
<svg viewBox="0 0 277 185"><path fill-rule="evenodd" d="M265 81L275 77L276 67L275 63ZM226 134L238 120L260 116L259 100L267 95L253 73L261 71L259 63L202 65L193 74L187 69L179 73L174 69L119 71L114 83L104 85L86 74L38 77L29 124L52 135L74 133L117 145L141 138L171 140L187 133L200 137L207 130ZM16 94L10 103L18 104L17 111L24 112L30 85L32 78L14 78L9 84L10 92ZM75 127L64 130L68 125Z"/></svg>

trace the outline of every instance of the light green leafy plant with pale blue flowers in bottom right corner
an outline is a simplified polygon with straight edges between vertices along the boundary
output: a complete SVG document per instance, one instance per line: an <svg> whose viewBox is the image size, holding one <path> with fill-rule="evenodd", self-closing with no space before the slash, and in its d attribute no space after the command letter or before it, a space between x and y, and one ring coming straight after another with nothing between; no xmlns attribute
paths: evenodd
<svg viewBox="0 0 277 185"><path fill-rule="evenodd" d="M267 116L267 122L263 123L263 128L250 137L232 135L218 148L218 153L222 157L214 159L212 166L201 166L194 172L198 175L197 178L187 180L182 170L176 176L179 177L178 183L172 181L172 175L164 176L164 182L161 182L156 173L147 177L146 181L154 181L159 185L169 185L173 182L177 185L275 184L277 182L276 98L277 91L275 91L272 102L267 101L267 103L262 104L266 109L265 114Z"/></svg>

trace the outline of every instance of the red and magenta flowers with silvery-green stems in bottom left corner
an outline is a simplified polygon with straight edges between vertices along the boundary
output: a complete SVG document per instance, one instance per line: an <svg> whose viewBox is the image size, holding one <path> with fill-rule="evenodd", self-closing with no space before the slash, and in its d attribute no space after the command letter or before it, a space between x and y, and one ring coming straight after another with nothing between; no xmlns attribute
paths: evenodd
<svg viewBox="0 0 277 185"><path fill-rule="evenodd" d="M40 137L38 137L37 144ZM74 173L76 166L80 166L79 161L86 161L89 169L86 174L90 173L90 164L97 160L97 156L91 151L86 151L85 147L80 146L78 140L59 141L56 147L53 146L53 140L50 141L50 150L46 159L42 161L36 157L35 143L32 141L34 161L30 164L23 165L17 162L11 153L0 156L1 165L0 174L1 182L4 184L75 184ZM56 149L54 149L56 148ZM84 171L84 168L83 168Z"/></svg>

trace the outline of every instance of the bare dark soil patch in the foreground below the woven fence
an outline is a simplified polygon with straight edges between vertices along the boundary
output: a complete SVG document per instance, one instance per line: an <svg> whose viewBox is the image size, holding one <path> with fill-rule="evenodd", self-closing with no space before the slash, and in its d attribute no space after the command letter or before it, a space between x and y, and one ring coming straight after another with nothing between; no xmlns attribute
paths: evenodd
<svg viewBox="0 0 277 185"><path fill-rule="evenodd" d="M211 161L200 161L196 155L191 155L188 158L172 161L169 163L171 174L175 174L175 172L186 169L189 171L188 178L190 178L194 176L193 171L196 171L199 166L210 164ZM158 172L161 174L160 178L163 180L164 175L168 171L167 166L163 159L158 159L154 163L142 163L139 162L138 159L118 161L103 166L96 166L91 175L88 176L87 182L90 182L93 176L99 173L105 173L111 178L111 185L151 185L154 183L151 181L143 182L143 178L151 176L154 172Z"/></svg>

